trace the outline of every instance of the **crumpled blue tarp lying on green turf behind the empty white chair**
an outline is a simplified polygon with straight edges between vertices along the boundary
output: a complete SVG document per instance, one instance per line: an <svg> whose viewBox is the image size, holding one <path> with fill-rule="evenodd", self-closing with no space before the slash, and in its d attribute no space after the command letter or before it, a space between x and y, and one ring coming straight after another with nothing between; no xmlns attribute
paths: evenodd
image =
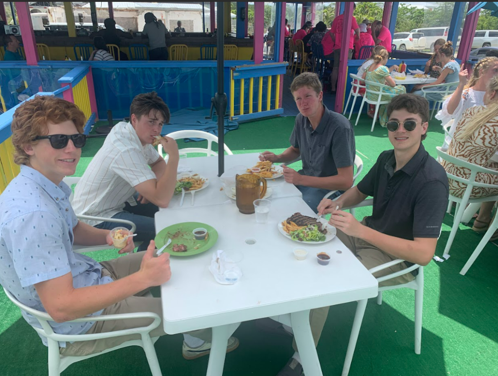
<svg viewBox="0 0 498 376"><path fill-rule="evenodd" d="M216 112L216 111L215 111ZM212 119L206 119L209 116L209 109L205 107L188 107L175 111L171 114L169 124L162 127L162 135L179 130L202 130L218 136L218 116L213 114ZM225 119L225 134L228 131L239 128L237 121ZM188 138L188 141L202 141L200 138Z"/></svg>

